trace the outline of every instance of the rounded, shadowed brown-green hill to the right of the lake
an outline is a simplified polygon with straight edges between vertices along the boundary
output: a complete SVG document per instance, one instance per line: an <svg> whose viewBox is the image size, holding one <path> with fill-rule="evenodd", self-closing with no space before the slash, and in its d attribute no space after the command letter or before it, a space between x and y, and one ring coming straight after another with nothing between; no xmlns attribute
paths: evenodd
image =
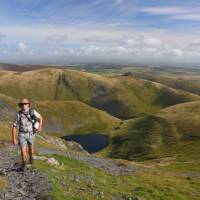
<svg viewBox="0 0 200 200"><path fill-rule="evenodd" d="M125 159L175 156L199 160L200 102L183 103L158 114L126 120L113 133L110 155Z"/></svg>

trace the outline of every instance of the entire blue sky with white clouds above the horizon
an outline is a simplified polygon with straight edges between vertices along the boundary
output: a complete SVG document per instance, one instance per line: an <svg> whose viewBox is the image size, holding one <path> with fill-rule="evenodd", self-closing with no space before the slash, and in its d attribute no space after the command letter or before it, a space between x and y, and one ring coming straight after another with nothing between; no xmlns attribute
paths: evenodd
<svg viewBox="0 0 200 200"><path fill-rule="evenodd" d="M200 63L197 0L0 0L0 62Z"/></svg>

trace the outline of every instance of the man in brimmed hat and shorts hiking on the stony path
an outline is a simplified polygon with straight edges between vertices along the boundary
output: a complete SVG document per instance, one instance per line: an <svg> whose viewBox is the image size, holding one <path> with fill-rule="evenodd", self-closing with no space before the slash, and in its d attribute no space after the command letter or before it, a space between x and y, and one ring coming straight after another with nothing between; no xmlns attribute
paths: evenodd
<svg viewBox="0 0 200 200"><path fill-rule="evenodd" d="M20 110L16 114L15 121L12 126L12 141L14 145L19 144L21 149L22 170L26 169L27 145L29 149L30 164L34 162L34 138L35 134L42 130L42 116L35 110L30 108L28 99L21 99L18 103ZM19 128L18 140L17 128Z"/></svg>

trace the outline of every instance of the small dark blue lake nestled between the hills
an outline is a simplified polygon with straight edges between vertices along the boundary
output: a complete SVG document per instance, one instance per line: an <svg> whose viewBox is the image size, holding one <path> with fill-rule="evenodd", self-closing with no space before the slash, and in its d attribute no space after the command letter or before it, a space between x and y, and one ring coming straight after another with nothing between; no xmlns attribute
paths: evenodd
<svg viewBox="0 0 200 200"><path fill-rule="evenodd" d="M69 135L63 138L79 143L89 153L98 152L109 144L108 136L103 134Z"/></svg>

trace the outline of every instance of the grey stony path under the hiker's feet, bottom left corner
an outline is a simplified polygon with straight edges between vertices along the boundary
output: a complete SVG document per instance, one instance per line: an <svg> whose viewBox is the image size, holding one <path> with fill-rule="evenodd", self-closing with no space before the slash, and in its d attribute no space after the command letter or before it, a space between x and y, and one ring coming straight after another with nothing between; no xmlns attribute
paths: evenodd
<svg viewBox="0 0 200 200"><path fill-rule="evenodd" d="M1 200L42 200L47 199L51 191L45 174L34 169L21 171L21 165L16 163L13 147L0 149L0 175L7 180L7 187L0 192ZM45 197L46 196L46 197ZM49 198L48 198L49 199Z"/></svg>

